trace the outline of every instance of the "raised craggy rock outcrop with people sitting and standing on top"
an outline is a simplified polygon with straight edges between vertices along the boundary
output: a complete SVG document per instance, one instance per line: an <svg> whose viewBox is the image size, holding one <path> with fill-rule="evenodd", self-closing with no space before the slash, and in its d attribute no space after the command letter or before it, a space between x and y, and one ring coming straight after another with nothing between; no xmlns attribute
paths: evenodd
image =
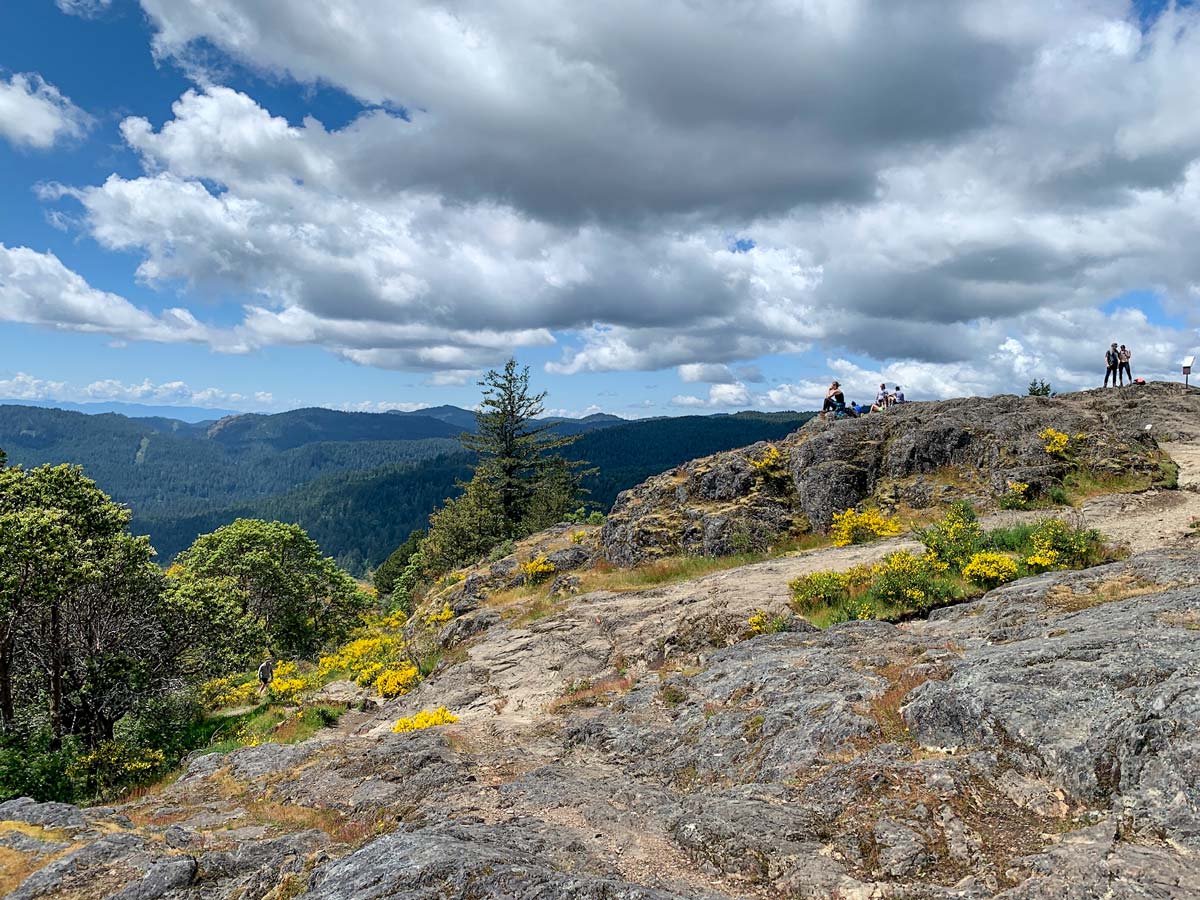
<svg viewBox="0 0 1200 900"><path fill-rule="evenodd" d="M601 535L620 566L680 553L764 550L823 532L870 502L919 510L967 497L988 508L1020 481L1031 496L1086 468L1150 485L1169 478L1158 439L1192 434L1200 390L1148 384L1060 397L970 397L910 403L860 419L814 419L775 443L694 460L625 491ZM1067 457L1039 434L1072 436ZM1082 436L1082 437L1076 437Z"/></svg>

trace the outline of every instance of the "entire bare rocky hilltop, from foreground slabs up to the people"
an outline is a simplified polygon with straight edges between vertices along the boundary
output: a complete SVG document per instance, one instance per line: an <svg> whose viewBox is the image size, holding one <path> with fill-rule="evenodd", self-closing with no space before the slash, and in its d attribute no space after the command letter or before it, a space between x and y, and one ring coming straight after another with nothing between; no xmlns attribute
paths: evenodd
<svg viewBox="0 0 1200 900"><path fill-rule="evenodd" d="M1013 484L1044 508L1000 509ZM791 578L920 548L830 547L826 509L931 521L965 496L986 527L1064 515L1133 552L905 622L793 614ZM335 727L115 808L0 805L11 896L1196 895L1193 518L1200 390L812 421L448 577L409 622L439 661L406 696L330 684ZM726 547L756 562L677 556ZM438 707L457 721L394 733Z"/></svg>

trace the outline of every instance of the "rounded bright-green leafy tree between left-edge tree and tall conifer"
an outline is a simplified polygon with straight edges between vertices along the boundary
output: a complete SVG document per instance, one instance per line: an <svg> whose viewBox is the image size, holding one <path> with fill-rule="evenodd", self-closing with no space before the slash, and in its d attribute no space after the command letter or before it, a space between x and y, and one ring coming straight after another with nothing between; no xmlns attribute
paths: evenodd
<svg viewBox="0 0 1200 900"><path fill-rule="evenodd" d="M300 526L239 518L204 534L175 560L184 577L215 580L269 648L311 656L354 628L370 598ZM238 624L238 628L241 628Z"/></svg>

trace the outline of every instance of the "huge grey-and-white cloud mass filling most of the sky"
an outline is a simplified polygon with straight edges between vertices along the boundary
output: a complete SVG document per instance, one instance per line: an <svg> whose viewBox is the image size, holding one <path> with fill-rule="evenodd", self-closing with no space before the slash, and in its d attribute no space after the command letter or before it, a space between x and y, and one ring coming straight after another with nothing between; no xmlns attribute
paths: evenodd
<svg viewBox="0 0 1200 900"><path fill-rule="evenodd" d="M557 342L716 408L820 400L751 392L767 354L961 392L1082 383L1110 328L1147 366L1195 341L1193 7L142 4L160 55L364 104L330 130L202 78L122 124L140 176L68 192L148 283L245 298L244 346L464 380ZM1190 328L1099 312L1134 289Z"/></svg>

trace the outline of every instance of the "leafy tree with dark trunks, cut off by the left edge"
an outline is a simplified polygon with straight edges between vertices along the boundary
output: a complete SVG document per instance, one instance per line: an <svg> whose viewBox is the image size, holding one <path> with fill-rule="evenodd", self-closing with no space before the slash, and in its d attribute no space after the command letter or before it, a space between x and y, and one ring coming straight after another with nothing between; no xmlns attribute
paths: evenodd
<svg viewBox="0 0 1200 900"><path fill-rule="evenodd" d="M162 574L76 466L0 469L0 721L89 743L170 678Z"/></svg>

